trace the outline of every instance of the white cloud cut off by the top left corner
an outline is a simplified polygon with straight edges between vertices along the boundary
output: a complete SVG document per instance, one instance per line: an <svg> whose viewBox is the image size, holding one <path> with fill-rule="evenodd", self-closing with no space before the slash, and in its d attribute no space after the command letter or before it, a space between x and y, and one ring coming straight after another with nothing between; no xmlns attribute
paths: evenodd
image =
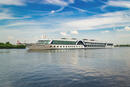
<svg viewBox="0 0 130 87"><path fill-rule="evenodd" d="M0 5L24 5L22 0L0 0Z"/></svg>

